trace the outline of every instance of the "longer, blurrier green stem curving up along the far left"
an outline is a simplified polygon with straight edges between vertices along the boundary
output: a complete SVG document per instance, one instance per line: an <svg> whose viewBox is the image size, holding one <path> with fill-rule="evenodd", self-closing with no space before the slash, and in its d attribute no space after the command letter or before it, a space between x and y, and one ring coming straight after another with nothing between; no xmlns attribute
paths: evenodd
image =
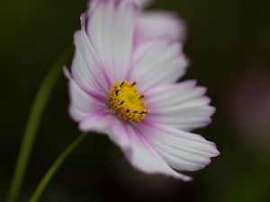
<svg viewBox="0 0 270 202"><path fill-rule="evenodd" d="M23 134L23 141L16 162L14 176L11 181L11 186L7 194L6 202L15 202L20 194L21 187L27 164L29 162L31 149L35 140L37 129L40 125L40 118L45 109L49 96L58 81L62 66L67 62L67 58L71 55L72 47L68 47L63 54L58 58L57 62L51 67L48 75L45 77L40 86L35 100L33 101L31 112L27 121L26 128Z"/></svg>

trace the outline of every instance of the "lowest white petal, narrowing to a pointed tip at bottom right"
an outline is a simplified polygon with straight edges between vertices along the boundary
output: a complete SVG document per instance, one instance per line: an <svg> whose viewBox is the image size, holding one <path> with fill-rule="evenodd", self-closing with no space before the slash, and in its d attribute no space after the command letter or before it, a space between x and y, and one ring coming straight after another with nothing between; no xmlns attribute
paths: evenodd
<svg viewBox="0 0 270 202"><path fill-rule="evenodd" d="M174 171L166 161L157 153L157 150L148 143L146 136L150 134L141 133L139 127L129 126L130 153L126 156L130 163L139 171L148 174L165 174L181 180L192 180L192 178Z"/></svg>

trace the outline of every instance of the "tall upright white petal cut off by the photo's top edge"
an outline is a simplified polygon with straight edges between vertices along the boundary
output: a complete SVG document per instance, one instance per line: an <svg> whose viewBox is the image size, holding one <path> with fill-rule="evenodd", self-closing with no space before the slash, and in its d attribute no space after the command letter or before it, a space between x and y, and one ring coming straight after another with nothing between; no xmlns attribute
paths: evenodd
<svg viewBox="0 0 270 202"><path fill-rule="evenodd" d="M130 69L137 6L117 0L93 4L87 23L89 40L111 82L125 80Z"/></svg>

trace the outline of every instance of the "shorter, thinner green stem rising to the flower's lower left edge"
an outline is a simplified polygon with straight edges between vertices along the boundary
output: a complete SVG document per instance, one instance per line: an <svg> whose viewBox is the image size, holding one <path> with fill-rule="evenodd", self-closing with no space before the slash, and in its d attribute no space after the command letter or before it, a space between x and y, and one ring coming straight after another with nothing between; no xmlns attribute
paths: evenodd
<svg viewBox="0 0 270 202"><path fill-rule="evenodd" d="M76 140L71 145L69 145L67 149L58 157L58 159L55 162L53 162L49 170L46 172L46 174L40 181L40 184L38 185L37 189L35 189L29 202L37 202L39 200L40 195L49 184L49 180L51 180L56 171L58 171L60 165L67 159L68 155L71 154L72 151L85 139L86 136L87 134L78 136Z"/></svg>

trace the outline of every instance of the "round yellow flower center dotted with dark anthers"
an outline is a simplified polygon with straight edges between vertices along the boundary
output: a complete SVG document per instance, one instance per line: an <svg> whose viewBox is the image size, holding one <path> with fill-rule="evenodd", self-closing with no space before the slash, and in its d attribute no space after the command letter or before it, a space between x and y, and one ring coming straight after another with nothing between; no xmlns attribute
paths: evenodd
<svg viewBox="0 0 270 202"><path fill-rule="evenodd" d="M140 122L150 112L144 106L144 95L135 87L137 82L116 82L110 91L109 101L112 110L126 121Z"/></svg>

